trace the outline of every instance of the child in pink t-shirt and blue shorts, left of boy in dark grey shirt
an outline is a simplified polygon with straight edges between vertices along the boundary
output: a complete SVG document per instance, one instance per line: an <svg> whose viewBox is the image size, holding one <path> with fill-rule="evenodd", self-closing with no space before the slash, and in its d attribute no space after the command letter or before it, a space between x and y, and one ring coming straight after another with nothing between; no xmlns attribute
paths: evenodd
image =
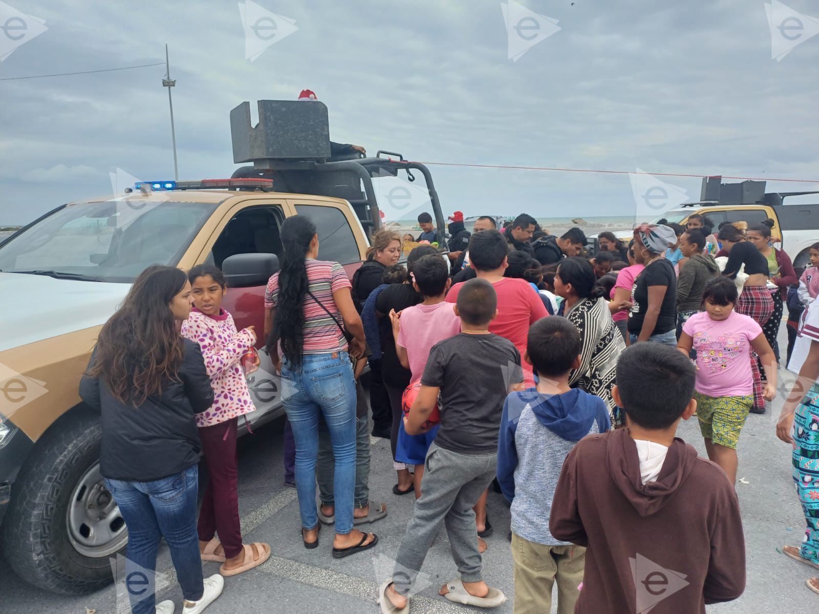
<svg viewBox="0 0 819 614"><path fill-rule="evenodd" d="M443 257L423 256L415 262L411 274L413 287L423 296L423 303L407 307L400 314L395 309L390 312L396 354L404 368L412 372L410 386L421 379L432 345L460 332L460 318L455 315L454 306L444 300L451 280ZM421 435L407 435L403 422L398 427L396 461L415 466L416 499L421 496L423 463L437 432L435 426Z"/></svg>

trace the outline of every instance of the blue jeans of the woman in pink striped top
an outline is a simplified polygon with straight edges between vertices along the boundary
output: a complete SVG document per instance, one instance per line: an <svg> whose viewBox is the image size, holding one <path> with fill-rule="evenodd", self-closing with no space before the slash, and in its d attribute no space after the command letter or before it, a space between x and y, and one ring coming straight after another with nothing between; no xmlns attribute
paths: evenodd
<svg viewBox="0 0 819 614"><path fill-rule="evenodd" d="M284 409L296 440L296 493L301 526L319 523L315 508L315 465L319 454L319 413L330 433L336 459L333 495L336 533L353 530L355 490L355 379L350 354L305 354L301 369L282 364Z"/></svg>

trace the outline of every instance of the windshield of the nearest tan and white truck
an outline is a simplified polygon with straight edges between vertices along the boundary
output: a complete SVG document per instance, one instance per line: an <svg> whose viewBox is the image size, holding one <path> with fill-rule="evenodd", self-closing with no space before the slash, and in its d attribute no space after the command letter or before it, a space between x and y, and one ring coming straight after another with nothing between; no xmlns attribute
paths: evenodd
<svg viewBox="0 0 819 614"><path fill-rule="evenodd" d="M0 271L130 283L175 266L218 203L134 195L66 205L0 246Z"/></svg>

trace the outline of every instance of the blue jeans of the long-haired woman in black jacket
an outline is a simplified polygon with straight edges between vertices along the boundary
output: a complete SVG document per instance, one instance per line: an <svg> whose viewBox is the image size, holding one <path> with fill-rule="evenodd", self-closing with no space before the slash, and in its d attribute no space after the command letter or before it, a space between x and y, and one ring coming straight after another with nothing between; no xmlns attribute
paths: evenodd
<svg viewBox="0 0 819 614"><path fill-rule="evenodd" d="M170 548L176 577L188 601L202 598L202 562L197 535L197 465L150 482L109 480L105 485L128 526L125 588L133 614L156 611L156 552Z"/></svg>

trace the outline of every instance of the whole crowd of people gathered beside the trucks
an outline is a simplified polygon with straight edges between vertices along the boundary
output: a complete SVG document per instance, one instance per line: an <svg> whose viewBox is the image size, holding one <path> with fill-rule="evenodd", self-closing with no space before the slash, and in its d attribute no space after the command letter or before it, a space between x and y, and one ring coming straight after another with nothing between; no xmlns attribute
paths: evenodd
<svg viewBox="0 0 819 614"><path fill-rule="evenodd" d="M640 585L648 579L640 569L652 566L686 580L657 612L704 612L706 603L739 597L745 567L736 448L754 393L773 400L777 378L770 335L760 318L743 312L742 295L772 302L762 261L772 267L784 260L767 252L758 227L759 237L739 250L744 237L721 230L715 241L730 253L721 275L704 221L643 224L628 245L601 235L591 261L579 257L586 239L578 228L551 237L526 215L504 232L494 220L476 228L449 261L432 245L433 228L423 228L419 238L430 245L415 247L406 266L397 264L400 236L379 233L370 264L350 282L338 264L316 259L320 237L309 219L288 219L292 253L269 283L265 336L292 383L284 402L305 548L318 546L319 521L336 526L334 557L378 544L376 535L353 528L387 515L385 504L370 502L367 484L369 416L359 377L369 360L382 386L378 398L370 390L370 409L381 419L375 428L391 439L398 472L393 493L415 495L395 568L379 588L382 612L409 612L441 521L459 576L440 594L477 607L505 602L482 574L481 537L491 532L486 495L495 477L511 506L516 614L550 612L555 584L559 614L643 611ZM538 250L550 264L532 257ZM794 443L794 481L808 523L802 548L785 553L819 567L812 460L819 450L819 305L810 307L819 292L819 243L811 264L798 285L789 274L774 284L777 296L791 286L792 317L805 311L788 354L791 368L810 381L808 395L794 390L786 400L777 435ZM748 287L734 279L740 266ZM473 274L463 275L467 269ZM258 567L271 548L245 544L238 515L236 437L239 420L254 409L246 374L259 363L256 332L238 331L221 308L219 269L200 265L187 279L174 270L153 267L140 276L103 327L80 392L102 412L102 472L129 526L130 564L152 569L164 535L183 611L193 614L218 597L223 576ZM299 279L306 289L294 293ZM175 340L162 341L179 320L181 337L174 331ZM140 338L118 347L113 340L124 330ZM764 379L754 370L760 365ZM316 381L310 368L332 369L324 376L337 377L337 386L313 398L300 384ZM173 437L163 433L156 449L133 448L127 429L156 429L130 421L133 407L162 413ZM680 421L692 416L713 463L676 437ZM172 454L157 456L174 441ZM200 453L210 480L197 522ZM157 467L162 462L170 464ZM179 505L165 505L178 491ZM671 532L684 547L668 549L657 539ZM197 540L198 557L191 553ZM219 575L203 579L194 558L220 562ZM819 580L808 587L819 593ZM172 602L156 605L148 593L130 595L133 612L173 612Z"/></svg>

